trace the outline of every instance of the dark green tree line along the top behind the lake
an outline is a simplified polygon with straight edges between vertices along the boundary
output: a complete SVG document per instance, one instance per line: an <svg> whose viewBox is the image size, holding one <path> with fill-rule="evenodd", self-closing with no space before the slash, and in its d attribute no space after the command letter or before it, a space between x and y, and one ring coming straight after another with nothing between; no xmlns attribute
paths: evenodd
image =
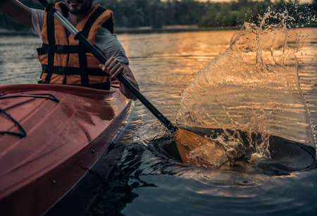
<svg viewBox="0 0 317 216"><path fill-rule="evenodd" d="M37 0L20 0L32 8L42 8ZM55 2L51 0L51 2ZM239 27L244 22L259 23L270 7L273 13L287 13L289 27L316 27L317 0L311 4L297 1L238 0L226 3L195 0L98 0L102 6L114 11L116 26L161 28L163 25L197 25L199 27ZM280 18L270 18L278 22ZM25 30L23 25L0 14L0 28Z"/></svg>

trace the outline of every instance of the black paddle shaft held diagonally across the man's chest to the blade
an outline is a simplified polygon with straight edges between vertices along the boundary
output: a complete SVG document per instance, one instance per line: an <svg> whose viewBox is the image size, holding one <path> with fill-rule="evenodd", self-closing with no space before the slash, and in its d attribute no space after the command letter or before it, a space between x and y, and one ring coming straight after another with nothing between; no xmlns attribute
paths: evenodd
<svg viewBox="0 0 317 216"><path fill-rule="evenodd" d="M39 0L39 2L46 8L47 13L53 14L54 17L70 31L70 33L75 35L75 39L78 39L80 42L82 42L82 44L84 44L87 51L92 53L101 63L106 63L107 58L104 56L104 54L101 53L97 47L92 45L81 32L79 32L63 15L61 15L61 13L56 10L53 4L49 4L46 0ZM125 77L125 75L123 75L123 73L117 75L117 79L122 82L125 87L127 87L132 92L132 94L134 94L137 99L139 99L139 101L141 101L144 106L146 106L151 111L151 113L153 113L153 115L155 115L155 117L157 117L163 123L165 127L167 127L171 132L176 132L178 130L178 128L175 127L172 122L170 122L170 120L168 120L158 109L156 109L156 107L153 106L153 104L147 100L141 94L141 92L135 88L134 85L131 84L131 82L127 79L127 77Z"/></svg>

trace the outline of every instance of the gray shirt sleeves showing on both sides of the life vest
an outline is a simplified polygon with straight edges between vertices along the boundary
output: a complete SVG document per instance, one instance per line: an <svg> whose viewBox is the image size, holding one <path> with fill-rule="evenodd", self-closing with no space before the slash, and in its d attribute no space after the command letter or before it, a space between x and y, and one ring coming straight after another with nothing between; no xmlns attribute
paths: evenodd
<svg viewBox="0 0 317 216"><path fill-rule="evenodd" d="M44 22L44 11L32 9L32 32L34 34L42 35L42 26ZM96 36L96 45L103 51L106 58L111 56L118 58L120 63L129 64L125 50L118 41L116 34L112 34L104 27L100 27Z"/></svg>

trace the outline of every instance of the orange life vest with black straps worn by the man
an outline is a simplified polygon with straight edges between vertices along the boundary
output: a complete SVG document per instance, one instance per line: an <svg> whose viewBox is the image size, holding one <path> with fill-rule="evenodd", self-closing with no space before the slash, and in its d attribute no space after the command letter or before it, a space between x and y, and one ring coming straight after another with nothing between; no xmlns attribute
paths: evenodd
<svg viewBox="0 0 317 216"><path fill-rule="evenodd" d="M68 15L66 5L61 1L56 9ZM113 33L113 12L99 4L75 27L95 44L101 26ZM99 68L100 62L74 35L67 36L66 28L51 13L44 12L42 47L37 49L42 64L42 83L89 85L107 82L107 74Z"/></svg>

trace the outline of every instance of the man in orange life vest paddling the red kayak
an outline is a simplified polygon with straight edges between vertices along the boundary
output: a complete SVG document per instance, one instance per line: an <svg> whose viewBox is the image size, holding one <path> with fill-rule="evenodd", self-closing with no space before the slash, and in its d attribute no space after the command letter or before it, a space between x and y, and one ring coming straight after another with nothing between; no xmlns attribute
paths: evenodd
<svg viewBox="0 0 317 216"><path fill-rule="evenodd" d="M113 34L112 11L99 5L93 6L93 1L60 1L56 8L77 30L85 34L89 42L101 49L108 58L104 65L92 53L87 53L82 44L50 13L28 8L18 0L1 0L0 11L16 22L32 27L32 32L42 38L42 48L37 49L42 64L39 83L75 84L107 89L111 79L123 72L138 89L125 51ZM122 83L120 91L129 99L135 99Z"/></svg>

